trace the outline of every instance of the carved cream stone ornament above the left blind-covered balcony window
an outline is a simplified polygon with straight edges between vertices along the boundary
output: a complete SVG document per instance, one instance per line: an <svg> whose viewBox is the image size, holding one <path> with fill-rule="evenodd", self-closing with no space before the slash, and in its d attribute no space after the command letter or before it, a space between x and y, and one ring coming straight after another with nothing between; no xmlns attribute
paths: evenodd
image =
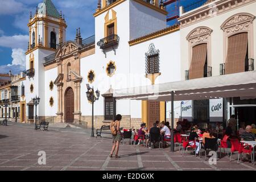
<svg viewBox="0 0 256 182"><path fill-rule="evenodd" d="M192 46L200 42L208 42L211 33L212 30L208 27L197 27L188 34L187 40Z"/></svg>

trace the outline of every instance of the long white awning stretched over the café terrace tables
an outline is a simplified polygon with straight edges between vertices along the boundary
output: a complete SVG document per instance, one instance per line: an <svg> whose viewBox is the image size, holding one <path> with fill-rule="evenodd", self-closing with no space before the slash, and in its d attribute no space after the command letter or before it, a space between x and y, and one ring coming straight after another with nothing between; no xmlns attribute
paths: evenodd
<svg viewBox="0 0 256 182"><path fill-rule="evenodd" d="M220 97L256 97L256 71L167 82L114 90L117 100L205 100Z"/></svg>

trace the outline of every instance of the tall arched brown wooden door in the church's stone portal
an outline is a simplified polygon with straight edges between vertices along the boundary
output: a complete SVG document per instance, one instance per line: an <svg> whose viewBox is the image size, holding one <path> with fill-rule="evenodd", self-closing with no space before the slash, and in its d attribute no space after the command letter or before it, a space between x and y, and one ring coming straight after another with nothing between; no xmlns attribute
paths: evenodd
<svg viewBox="0 0 256 182"><path fill-rule="evenodd" d="M65 92L65 122L72 123L74 121L74 92L72 88L67 88Z"/></svg>

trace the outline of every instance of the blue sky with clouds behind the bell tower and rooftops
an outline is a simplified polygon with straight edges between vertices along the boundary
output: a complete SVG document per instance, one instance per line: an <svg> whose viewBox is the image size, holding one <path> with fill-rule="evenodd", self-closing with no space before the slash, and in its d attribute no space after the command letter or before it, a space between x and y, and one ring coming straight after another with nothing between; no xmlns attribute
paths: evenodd
<svg viewBox="0 0 256 182"><path fill-rule="evenodd" d="M180 0L188 5L199 0ZM24 52L28 42L30 11L43 0L0 0L0 73L11 70L18 73L25 68ZM94 35L93 13L98 0L52 0L57 10L65 15L68 24L67 40L75 39L76 28L81 27L82 38ZM170 7L169 10L172 8ZM173 23L173 22L171 22Z"/></svg>

